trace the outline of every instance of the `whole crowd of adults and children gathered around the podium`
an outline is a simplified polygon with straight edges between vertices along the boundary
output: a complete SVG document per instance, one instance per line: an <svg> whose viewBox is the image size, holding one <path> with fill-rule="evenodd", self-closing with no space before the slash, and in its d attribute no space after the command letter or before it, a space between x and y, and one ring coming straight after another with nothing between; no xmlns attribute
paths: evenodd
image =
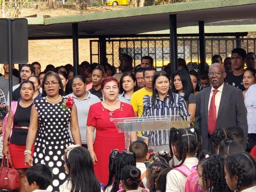
<svg viewBox="0 0 256 192"><path fill-rule="evenodd" d="M116 68L39 62L0 77L2 155L19 191L256 191L256 57L241 48L211 65L145 56ZM13 89L9 90L9 75ZM19 79L20 78L20 83ZM12 91L10 106L9 91ZM119 133L113 119L180 116L182 129Z"/></svg>

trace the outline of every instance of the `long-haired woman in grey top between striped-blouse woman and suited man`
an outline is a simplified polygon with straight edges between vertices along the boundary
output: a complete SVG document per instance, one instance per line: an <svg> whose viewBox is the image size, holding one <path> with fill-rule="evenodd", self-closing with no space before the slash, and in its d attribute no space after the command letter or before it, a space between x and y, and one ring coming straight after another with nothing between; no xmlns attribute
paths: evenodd
<svg viewBox="0 0 256 192"><path fill-rule="evenodd" d="M194 122L196 113L196 95L189 73L185 69L177 70L172 77L172 90L174 93L184 93L184 100L187 103L190 114L190 123Z"/></svg>

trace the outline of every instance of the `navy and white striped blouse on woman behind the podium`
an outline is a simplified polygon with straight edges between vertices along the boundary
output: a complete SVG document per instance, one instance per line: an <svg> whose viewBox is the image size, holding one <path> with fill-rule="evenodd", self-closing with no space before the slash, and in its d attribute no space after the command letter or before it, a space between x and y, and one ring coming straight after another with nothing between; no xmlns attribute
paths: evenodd
<svg viewBox="0 0 256 192"><path fill-rule="evenodd" d="M152 97L149 97L149 95L145 95L145 97L143 98L142 117L180 115L183 120L189 121L189 112L187 104L184 101L184 94L172 94L173 101L171 104L169 104L169 95L167 95L163 101L160 100L157 95L154 105L152 103ZM148 139L149 145L168 145L169 130L143 131L142 138Z"/></svg>

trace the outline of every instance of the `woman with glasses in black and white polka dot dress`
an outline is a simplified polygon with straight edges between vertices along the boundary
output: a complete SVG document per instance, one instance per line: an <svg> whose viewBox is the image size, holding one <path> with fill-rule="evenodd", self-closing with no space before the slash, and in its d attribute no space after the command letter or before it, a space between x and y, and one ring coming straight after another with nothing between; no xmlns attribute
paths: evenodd
<svg viewBox="0 0 256 192"><path fill-rule="evenodd" d="M69 122L75 144L81 145L76 106L72 99L63 99L62 94L63 85L59 75L51 71L46 73L43 79L43 95L46 97L36 100L31 109L25 151L27 165L41 163L50 167L53 173L52 191L59 191L59 186L67 179L63 155L71 145ZM34 141L33 159L30 150Z"/></svg>

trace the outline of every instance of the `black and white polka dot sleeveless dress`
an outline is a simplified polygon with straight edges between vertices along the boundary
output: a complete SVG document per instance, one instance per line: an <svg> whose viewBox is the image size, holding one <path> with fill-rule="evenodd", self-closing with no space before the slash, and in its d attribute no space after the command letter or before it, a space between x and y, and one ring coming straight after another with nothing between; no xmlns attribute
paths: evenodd
<svg viewBox="0 0 256 192"><path fill-rule="evenodd" d="M71 110L63 109L62 102L63 99L57 104L51 104L45 97L34 102L39 127L33 160L34 164L45 164L52 170L52 191L59 191L59 186L66 181L63 155L71 145L68 132Z"/></svg>

